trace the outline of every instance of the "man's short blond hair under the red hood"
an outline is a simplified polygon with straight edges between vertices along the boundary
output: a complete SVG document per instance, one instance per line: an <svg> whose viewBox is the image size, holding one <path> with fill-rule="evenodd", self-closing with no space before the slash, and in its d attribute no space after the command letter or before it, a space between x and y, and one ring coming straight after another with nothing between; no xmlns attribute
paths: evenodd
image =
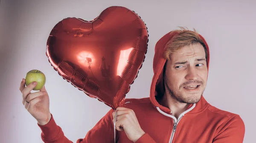
<svg viewBox="0 0 256 143"><path fill-rule="evenodd" d="M205 50L206 60L207 60L207 48L204 44L203 39L199 36L198 32L194 29L194 31L190 31L188 28L185 27L179 27L180 30L172 31L170 34L177 33L175 36L173 36L172 39L169 40L169 42L166 43L164 57L166 59L170 59L170 55L179 50L180 48L184 46L188 46L191 44L200 43Z"/></svg>

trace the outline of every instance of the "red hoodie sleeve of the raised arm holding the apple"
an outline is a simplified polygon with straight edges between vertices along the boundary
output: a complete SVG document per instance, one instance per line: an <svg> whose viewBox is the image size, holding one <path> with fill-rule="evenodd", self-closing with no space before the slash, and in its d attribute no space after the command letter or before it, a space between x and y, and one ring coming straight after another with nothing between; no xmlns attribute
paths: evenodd
<svg viewBox="0 0 256 143"><path fill-rule="evenodd" d="M87 135L84 138L78 139L76 143L114 143L112 112L113 109L109 110L108 113L87 132ZM44 143L73 143L64 135L61 127L55 123L53 116L49 123L43 126L38 124L38 126L41 128L41 139Z"/></svg>

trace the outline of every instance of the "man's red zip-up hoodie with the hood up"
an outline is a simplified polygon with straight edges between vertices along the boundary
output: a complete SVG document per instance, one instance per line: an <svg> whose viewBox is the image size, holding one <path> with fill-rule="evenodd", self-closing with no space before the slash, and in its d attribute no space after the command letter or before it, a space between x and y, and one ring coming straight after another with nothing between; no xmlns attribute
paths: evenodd
<svg viewBox="0 0 256 143"><path fill-rule="evenodd" d="M170 115L170 109L161 106L156 97L164 93L163 67L166 59L163 50L166 43L174 36L163 36L155 46L153 70L154 76L150 88L150 97L125 99L125 108L133 109L141 128L146 133L136 143L242 143L244 139L244 122L239 115L213 107L202 96L196 104L191 104L178 119ZM201 35L200 35L201 36ZM201 36L204 40L204 38ZM207 46L209 69L209 47ZM125 132L116 131L114 141L113 109L76 143L133 143ZM49 123L41 128L44 143L73 143L64 136L52 116Z"/></svg>

